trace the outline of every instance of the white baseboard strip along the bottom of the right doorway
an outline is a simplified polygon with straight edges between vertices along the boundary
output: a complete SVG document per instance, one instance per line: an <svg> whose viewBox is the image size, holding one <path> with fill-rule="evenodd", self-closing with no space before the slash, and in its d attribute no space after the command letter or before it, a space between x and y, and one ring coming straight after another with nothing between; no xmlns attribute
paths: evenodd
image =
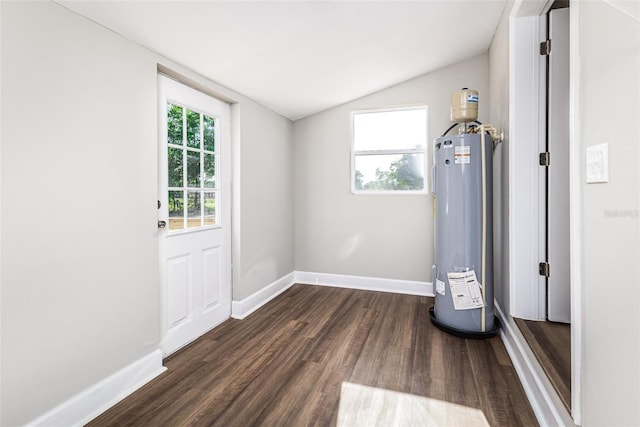
<svg viewBox="0 0 640 427"><path fill-rule="evenodd" d="M518 326L505 316L497 301L495 309L501 323L500 337L540 425L575 426Z"/></svg>

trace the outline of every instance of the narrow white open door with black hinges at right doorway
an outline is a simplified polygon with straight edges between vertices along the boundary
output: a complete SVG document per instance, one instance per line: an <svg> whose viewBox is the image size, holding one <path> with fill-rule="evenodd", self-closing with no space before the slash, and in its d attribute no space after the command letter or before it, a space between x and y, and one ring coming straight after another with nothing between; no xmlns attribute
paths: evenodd
<svg viewBox="0 0 640 427"><path fill-rule="evenodd" d="M569 9L549 12L547 317L571 321L569 254Z"/></svg>

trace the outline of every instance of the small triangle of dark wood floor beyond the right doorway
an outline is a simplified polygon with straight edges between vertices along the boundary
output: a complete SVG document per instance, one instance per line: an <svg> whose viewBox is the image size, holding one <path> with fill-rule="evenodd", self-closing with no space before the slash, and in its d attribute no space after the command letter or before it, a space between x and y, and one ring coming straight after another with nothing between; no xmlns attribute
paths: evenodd
<svg viewBox="0 0 640 427"><path fill-rule="evenodd" d="M571 325L515 319L560 400L571 413Z"/></svg>

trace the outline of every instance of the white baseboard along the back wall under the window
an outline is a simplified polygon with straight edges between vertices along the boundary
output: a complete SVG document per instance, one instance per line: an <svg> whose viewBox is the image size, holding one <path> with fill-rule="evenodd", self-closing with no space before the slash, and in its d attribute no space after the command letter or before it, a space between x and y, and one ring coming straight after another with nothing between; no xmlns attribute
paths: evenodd
<svg viewBox="0 0 640 427"><path fill-rule="evenodd" d="M304 285L333 286L364 291L392 292L396 294L429 297L434 295L433 284L431 282L417 282L412 280L296 271L295 282Z"/></svg>

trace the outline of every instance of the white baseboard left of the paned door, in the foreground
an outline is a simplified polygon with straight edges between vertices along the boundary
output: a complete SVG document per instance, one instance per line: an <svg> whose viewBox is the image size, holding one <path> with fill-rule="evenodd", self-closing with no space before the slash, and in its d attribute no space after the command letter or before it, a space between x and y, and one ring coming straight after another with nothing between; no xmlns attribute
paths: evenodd
<svg viewBox="0 0 640 427"><path fill-rule="evenodd" d="M155 350L46 412L27 426L82 426L163 373Z"/></svg>

